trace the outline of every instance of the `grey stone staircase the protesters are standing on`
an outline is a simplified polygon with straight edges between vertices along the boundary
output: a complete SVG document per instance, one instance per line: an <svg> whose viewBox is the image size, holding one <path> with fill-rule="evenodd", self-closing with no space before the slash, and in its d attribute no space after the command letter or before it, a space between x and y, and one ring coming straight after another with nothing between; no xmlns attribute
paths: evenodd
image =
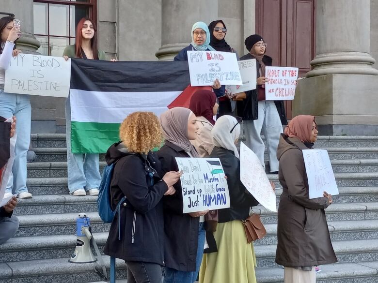
<svg viewBox="0 0 378 283"><path fill-rule="evenodd" d="M68 263L76 245L78 212L91 219L100 249L110 225L96 213L96 197L68 194L64 134L34 134L38 162L28 164L31 199L21 199L15 214L20 220L15 238L0 246L0 283L100 282L94 264ZM326 209L332 244L339 263L321 266L319 283L378 282L378 137L320 136L318 148L329 150L340 194ZM103 160L103 156L101 156ZM105 165L101 162L101 168ZM282 193L277 175L277 204ZM282 283L283 268L274 262L277 215L253 208L266 224L267 236L256 241L258 283ZM109 266L109 257L105 257ZM119 282L126 264L117 261ZM118 282L118 281L117 281Z"/></svg>

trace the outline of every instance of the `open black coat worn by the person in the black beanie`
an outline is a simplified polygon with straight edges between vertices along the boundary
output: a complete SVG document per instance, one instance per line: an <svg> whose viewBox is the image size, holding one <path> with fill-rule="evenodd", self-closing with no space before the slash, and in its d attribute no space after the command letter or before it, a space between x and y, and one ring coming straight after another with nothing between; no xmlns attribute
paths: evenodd
<svg viewBox="0 0 378 283"><path fill-rule="evenodd" d="M240 60L249 60L249 59L254 59L254 57L251 54L246 54L240 58ZM271 66L272 61L273 60L271 57L264 55L263 62L265 66ZM257 60L256 60L256 68L257 68L257 77L260 77L260 74L259 74L260 64ZM257 86L257 88L259 87L260 86ZM242 117L243 120L258 119L257 88L246 91L246 99L244 99L243 101L236 102L236 116ZM286 119L284 101L282 100L275 101L274 104L276 104L278 114L280 115L281 123L283 125L286 125L287 119Z"/></svg>

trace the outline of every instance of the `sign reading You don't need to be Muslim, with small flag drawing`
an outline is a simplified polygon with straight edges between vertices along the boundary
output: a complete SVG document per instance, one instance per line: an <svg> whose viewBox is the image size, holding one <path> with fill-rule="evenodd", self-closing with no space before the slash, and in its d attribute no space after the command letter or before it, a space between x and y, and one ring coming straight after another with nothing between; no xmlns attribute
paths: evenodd
<svg viewBox="0 0 378 283"><path fill-rule="evenodd" d="M227 180L219 158L176 157L181 175L183 213L230 207Z"/></svg>

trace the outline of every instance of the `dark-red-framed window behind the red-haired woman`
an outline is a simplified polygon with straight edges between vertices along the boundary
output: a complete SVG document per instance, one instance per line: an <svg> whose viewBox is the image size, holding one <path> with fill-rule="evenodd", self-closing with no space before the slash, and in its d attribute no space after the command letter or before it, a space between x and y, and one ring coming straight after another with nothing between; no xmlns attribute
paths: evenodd
<svg viewBox="0 0 378 283"><path fill-rule="evenodd" d="M41 43L37 52L61 57L75 44L76 25L82 17L96 22L96 0L34 0L34 36Z"/></svg>

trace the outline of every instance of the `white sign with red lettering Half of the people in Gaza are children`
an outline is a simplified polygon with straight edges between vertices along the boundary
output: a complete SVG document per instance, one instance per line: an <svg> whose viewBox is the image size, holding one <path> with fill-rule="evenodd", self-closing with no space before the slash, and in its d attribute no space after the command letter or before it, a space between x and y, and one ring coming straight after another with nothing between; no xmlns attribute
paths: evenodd
<svg viewBox="0 0 378 283"><path fill-rule="evenodd" d="M293 100L297 86L298 68L266 67L266 100Z"/></svg>

